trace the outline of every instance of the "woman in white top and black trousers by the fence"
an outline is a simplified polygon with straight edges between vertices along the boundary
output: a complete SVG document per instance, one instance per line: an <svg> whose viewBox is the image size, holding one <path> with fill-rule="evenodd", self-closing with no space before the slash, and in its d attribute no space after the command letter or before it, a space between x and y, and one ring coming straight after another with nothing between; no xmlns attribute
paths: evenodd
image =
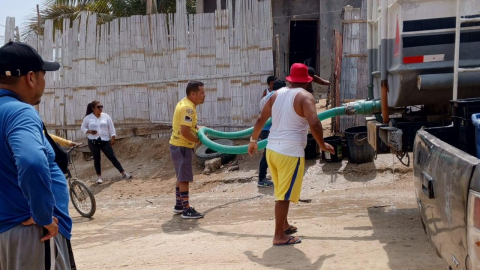
<svg viewBox="0 0 480 270"><path fill-rule="evenodd" d="M102 168L100 166L100 151L112 162L113 166L122 173L123 178L130 179L122 165L115 157L112 146L115 144L115 127L112 118L102 112L103 105L94 100L87 106L87 113L83 118L82 133L88 134L88 147L93 154L95 171L97 172L97 184L103 183Z"/></svg>

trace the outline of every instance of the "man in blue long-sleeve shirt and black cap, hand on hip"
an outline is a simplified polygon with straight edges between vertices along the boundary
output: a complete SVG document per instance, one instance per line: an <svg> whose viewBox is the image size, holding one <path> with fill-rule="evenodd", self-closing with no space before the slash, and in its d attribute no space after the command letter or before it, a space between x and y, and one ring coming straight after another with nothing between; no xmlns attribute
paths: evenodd
<svg viewBox="0 0 480 270"><path fill-rule="evenodd" d="M27 44L0 48L0 270L74 265L67 181L32 106L59 68Z"/></svg>

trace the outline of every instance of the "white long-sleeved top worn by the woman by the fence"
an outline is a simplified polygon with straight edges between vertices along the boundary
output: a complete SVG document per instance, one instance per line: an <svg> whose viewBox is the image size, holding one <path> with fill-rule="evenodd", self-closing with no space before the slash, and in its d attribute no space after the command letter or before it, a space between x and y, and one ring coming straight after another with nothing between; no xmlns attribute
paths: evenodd
<svg viewBox="0 0 480 270"><path fill-rule="evenodd" d="M85 116L82 123L82 133L86 134L87 130L97 131L95 135L88 134L90 140L96 140L100 137L102 141L109 141L111 137L116 136L112 118L106 113L100 114L100 118L97 118L93 113Z"/></svg>

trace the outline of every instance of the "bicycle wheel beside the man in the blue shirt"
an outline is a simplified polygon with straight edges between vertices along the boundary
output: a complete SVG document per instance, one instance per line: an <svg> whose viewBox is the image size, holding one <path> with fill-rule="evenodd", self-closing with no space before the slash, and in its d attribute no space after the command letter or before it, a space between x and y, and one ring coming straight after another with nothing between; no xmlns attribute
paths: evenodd
<svg viewBox="0 0 480 270"><path fill-rule="evenodd" d="M97 210L95 196L82 181L74 180L70 186L70 198L73 207L83 217L92 217Z"/></svg>

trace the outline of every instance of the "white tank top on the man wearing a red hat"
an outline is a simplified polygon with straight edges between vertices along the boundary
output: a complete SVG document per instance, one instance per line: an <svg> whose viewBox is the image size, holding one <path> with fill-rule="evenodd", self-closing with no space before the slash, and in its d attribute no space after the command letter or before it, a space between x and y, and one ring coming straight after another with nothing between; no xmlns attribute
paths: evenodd
<svg viewBox="0 0 480 270"><path fill-rule="evenodd" d="M307 146L308 122L293 107L295 97L302 88L284 87L277 91L272 106L272 127L267 149L291 157L304 157Z"/></svg>

